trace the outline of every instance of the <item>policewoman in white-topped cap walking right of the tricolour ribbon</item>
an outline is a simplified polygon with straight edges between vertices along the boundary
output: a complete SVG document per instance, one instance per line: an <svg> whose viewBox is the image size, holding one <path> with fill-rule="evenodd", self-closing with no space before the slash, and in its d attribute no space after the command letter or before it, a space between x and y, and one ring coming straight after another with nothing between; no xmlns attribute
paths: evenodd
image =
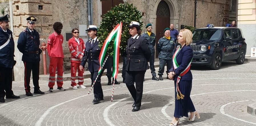
<svg viewBox="0 0 256 126"><path fill-rule="evenodd" d="M148 61L151 57L151 52L147 39L140 35L140 24L132 21L128 27L132 37L127 40L125 83L134 99L132 112L136 112L141 106L143 80L146 70L149 69Z"/></svg>

